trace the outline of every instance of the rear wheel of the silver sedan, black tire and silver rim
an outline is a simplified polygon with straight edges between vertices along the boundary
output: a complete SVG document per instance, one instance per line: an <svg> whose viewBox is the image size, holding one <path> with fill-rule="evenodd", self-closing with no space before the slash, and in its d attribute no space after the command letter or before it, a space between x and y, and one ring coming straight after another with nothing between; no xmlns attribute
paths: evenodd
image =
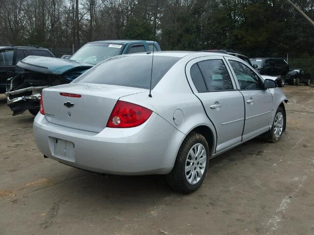
<svg viewBox="0 0 314 235"><path fill-rule="evenodd" d="M209 146L204 136L190 133L183 141L175 165L167 175L169 186L191 193L202 185L209 165Z"/></svg>

